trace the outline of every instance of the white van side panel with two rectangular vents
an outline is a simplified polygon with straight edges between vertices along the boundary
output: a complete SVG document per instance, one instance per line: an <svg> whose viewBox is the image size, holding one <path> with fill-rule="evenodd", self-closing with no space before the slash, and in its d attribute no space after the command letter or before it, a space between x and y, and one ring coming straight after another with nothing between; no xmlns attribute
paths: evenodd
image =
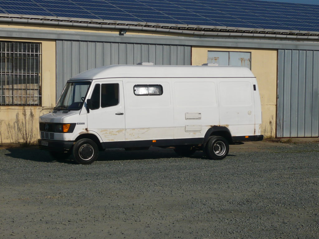
<svg viewBox="0 0 319 239"><path fill-rule="evenodd" d="M174 138L204 138L219 125L217 87L213 79L174 79Z"/></svg>

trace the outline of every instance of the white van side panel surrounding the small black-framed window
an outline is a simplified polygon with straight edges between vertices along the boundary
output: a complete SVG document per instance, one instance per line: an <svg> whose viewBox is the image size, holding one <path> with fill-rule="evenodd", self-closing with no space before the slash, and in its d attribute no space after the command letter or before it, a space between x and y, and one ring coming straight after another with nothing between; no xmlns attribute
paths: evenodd
<svg viewBox="0 0 319 239"><path fill-rule="evenodd" d="M162 95L135 95L135 85L161 85ZM125 80L125 141L173 139L170 83L163 78Z"/></svg>

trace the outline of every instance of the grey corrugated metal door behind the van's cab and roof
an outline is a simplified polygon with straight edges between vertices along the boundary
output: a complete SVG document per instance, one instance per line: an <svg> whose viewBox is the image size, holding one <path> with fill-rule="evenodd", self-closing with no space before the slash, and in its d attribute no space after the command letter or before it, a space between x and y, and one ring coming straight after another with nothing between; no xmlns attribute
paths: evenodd
<svg viewBox="0 0 319 239"><path fill-rule="evenodd" d="M190 65L190 46L56 40L56 99L66 81L88 69L138 62Z"/></svg>

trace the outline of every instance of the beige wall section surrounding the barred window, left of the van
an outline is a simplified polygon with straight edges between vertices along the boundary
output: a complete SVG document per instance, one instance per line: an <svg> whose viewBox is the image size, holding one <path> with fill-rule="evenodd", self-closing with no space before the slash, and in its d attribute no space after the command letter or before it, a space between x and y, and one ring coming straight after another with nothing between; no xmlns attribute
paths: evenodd
<svg viewBox="0 0 319 239"><path fill-rule="evenodd" d="M39 136L39 116L47 113L56 104L56 41L42 39L21 39L21 38L0 38L2 41L23 41L23 42L40 42L41 43L41 106L0 106L1 136L4 143L12 142L12 138L18 137L18 132L13 128L10 129L9 124L13 126L16 120L16 114L19 113L22 120L23 108L26 109L27 118L30 110L34 114L33 120L33 141ZM11 138L9 136L11 132ZM22 142L22 139L19 141Z"/></svg>

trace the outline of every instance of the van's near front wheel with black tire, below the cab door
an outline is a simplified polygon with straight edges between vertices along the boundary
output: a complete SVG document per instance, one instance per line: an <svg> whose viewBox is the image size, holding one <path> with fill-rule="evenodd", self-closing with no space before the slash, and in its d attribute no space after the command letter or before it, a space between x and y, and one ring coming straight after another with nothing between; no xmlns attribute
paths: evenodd
<svg viewBox="0 0 319 239"><path fill-rule="evenodd" d="M80 164L91 164L99 156L99 148L93 140L80 139L73 145L74 161Z"/></svg>

